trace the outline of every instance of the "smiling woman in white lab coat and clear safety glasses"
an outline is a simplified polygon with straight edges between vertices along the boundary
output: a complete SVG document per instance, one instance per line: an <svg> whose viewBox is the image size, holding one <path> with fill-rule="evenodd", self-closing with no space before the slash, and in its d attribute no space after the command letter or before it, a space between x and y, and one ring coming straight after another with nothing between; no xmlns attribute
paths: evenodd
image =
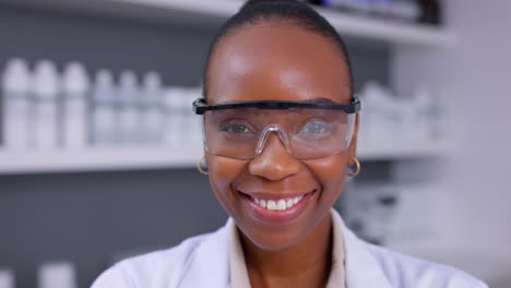
<svg viewBox="0 0 511 288"><path fill-rule="evenodd" d="M193 106L204 119L202 160L229 220L123 261L94 288L486 287L359 240L332 209L346 175L360 169L360 103L341 37L306 4L250 1L228 20Z"/></svg>

